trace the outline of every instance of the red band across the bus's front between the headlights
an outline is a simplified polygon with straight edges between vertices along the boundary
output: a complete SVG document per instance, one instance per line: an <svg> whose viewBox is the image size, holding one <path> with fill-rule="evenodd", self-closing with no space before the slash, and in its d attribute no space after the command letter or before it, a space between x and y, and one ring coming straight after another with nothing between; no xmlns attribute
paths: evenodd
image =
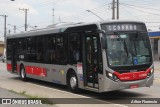
<svg viewBox="0 0 160 107"><path fill-rule="evenodd" d="M140 80L145 79L147 74L151 71L151 69L147 69L146 71L138 71L138 72L129 72L129 73L118 73L114 72L114 74L121 80L121 81L133 81L133 80Z"/></svg>

